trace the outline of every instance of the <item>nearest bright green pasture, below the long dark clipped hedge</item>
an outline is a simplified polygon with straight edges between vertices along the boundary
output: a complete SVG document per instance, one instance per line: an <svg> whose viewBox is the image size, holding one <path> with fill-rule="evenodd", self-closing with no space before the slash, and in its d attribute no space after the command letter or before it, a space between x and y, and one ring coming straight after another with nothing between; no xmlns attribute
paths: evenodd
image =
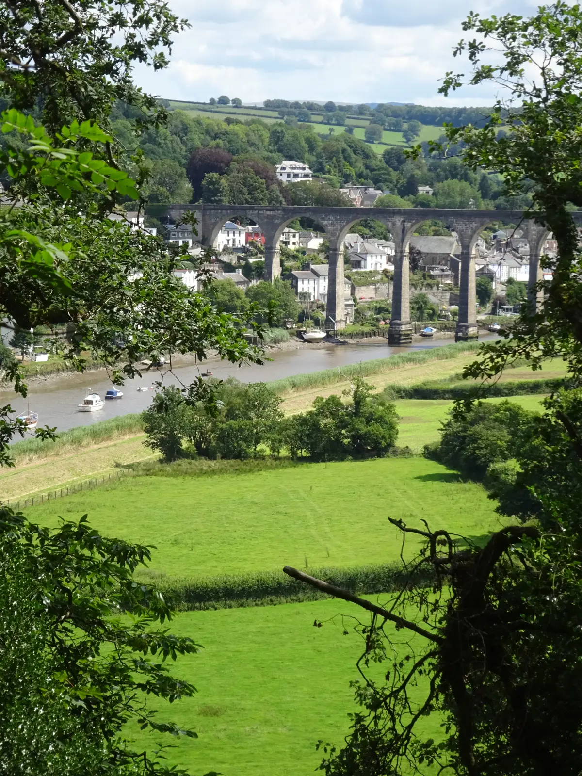
<svg viewBox="0 0 582 776"><path fill-rule="evenodd" d="M354 616L362 622L368 617L332 599L178 615L170 623L172 632L190 636L203 650L181 657L173 669L198 694L165 705L158 721L172 719L199 737L173 741L168 766L188 767L199 776L208 771L224 776L314 773L321 761L317 740L341 745L349 730L348 713L357 709L349 687L362 653ZM314 627L316 620L321 628ZM371 675L383 676L386 667L373 666ZM413 691L413 699L414 692L419 691ZM424 729L428 736L440 736L435 718L427 719ZM128 733L150 751L161 739L137 728Z"/></svg>

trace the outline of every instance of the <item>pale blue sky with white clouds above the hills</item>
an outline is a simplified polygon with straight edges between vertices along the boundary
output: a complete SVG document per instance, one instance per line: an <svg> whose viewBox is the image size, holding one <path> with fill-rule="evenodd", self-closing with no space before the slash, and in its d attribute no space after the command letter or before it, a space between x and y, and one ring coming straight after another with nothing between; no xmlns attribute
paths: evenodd
<svg viewBox="0 0 582 776"><path fill-rule="evenodd" d="M165 99L227 95L334 102L483 106L493 88L438 94L469 10L532 15L531 0L169 0L191 27L165 71L136 69L137 83Z"/></svg>

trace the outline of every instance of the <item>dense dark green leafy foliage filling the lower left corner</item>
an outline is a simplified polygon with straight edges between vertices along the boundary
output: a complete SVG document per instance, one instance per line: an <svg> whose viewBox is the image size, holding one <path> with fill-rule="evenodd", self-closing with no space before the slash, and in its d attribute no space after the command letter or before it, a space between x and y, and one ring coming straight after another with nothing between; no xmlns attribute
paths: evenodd
<svg viewBox="0 0 582 776"><path fill-rule="evenodd" d="M6 774L164 774L159 757L123 739L142 729L196 736L158 721L148 696L196 690L168 659L196 653L164 627L165 598L133 580L147 547L106 539L87 523L40 528L0 512L0 768ZM184 771L178 771L183 773Z"/></svg>

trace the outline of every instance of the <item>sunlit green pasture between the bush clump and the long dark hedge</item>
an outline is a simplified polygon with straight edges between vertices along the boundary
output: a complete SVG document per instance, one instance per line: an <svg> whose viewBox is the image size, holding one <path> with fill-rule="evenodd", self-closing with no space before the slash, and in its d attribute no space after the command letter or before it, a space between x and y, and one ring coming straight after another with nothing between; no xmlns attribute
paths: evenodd
<svg viewBox="0 0 582 776"><path fill-rule="evenodd" d="M106 535L156 546L151 573L168 577L280 570L286 563L397 561L400 535L389 515L471 536L499 521L480 485L421 458L306 463L244 475L138 476L28 512L42 525L85 513ZM411 542L411 553L416 549Z"/></svg>

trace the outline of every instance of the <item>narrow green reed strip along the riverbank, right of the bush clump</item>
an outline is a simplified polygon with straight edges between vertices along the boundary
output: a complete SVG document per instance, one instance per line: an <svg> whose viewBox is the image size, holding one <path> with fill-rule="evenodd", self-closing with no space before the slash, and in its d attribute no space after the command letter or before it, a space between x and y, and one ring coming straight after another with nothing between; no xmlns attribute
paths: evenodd
<svg viewBox="0 0 582 776"><path fill-rule="evenodd" d="M275 393L279 394L293 393L293 391L309 388L321 388L334 385L335 383L345 383L346 379L352 377L366 377L383 374L384 372L393 372L402 366L454 359L463 353L476 352L479 346L479 342L456 342L454 345L443 345L440 348L431 348L431 350L390 355L387 359L373 359L372 361L359 362L358 364L348 364L341 367L341 369L338 367L337 369L322 369L320 372L293 375L280 380L273 380L272 383L268 384Z"/></svg>

